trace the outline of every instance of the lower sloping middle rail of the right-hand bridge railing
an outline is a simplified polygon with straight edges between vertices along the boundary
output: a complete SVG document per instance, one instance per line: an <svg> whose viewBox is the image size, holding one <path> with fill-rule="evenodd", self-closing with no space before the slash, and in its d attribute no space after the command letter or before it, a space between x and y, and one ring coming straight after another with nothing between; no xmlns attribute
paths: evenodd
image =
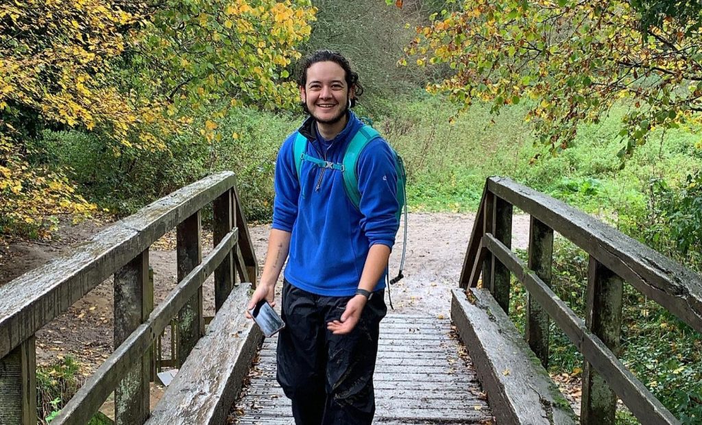
<svg viewBox="0 0 702 425"><path fill-rule="evenodd" d="M677 424L658 399L616 358L609 348L585 327L581 318L546 285L524 261L492 235L483 237L486 247L507 266L534 296L550 318L583 353L590 365L607 377L607 382L629 410L645 424Z"/></svg>

